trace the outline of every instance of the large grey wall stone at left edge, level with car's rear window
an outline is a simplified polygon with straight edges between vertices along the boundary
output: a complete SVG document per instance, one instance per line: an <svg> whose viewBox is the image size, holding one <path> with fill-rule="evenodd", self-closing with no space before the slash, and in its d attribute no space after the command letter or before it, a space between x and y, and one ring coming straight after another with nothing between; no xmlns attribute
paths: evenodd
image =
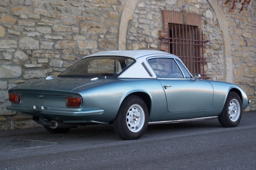
<svg viewBox="0 0 256 170"><path fill-rule="evenodd" d="M0 66L0 78L18 78L22 73L20 66Z"/></svg>

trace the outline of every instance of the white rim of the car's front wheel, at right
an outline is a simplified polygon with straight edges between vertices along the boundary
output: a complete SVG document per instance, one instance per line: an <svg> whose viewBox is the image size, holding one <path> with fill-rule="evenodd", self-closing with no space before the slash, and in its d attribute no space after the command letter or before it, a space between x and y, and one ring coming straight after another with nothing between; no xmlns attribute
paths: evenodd
<svg viewBox="0 0 256 170"><path fill-rule="evenodd" d="M238 100L233 99L228 106L228 117L231 121L237 121L240 116L240 104Z"/></svg>

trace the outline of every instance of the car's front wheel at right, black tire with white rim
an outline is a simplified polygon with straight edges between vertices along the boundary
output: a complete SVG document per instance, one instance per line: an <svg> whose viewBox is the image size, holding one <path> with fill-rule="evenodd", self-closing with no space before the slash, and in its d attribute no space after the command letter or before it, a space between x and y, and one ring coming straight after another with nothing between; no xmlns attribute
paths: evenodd
<svg viewBox="0 0 256 170"><path fill-rule="evenodd" d="M222 113L218 117L220 125L223 127L236 127L239 124L241 117L241 99L236 92L229 92Z"/></svg>

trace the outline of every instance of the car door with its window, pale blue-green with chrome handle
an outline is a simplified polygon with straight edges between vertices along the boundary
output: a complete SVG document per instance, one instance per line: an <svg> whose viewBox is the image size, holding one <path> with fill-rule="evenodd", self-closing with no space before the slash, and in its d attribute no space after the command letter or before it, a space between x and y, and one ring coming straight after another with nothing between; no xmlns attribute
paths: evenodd
<svg viewBox="0 0 256 170"><path fill-rule="evenodd" d="M148 64L162 84L170 113L211 109L212 84L205 80L195 80L181 61L158 57L148 59Z"/></svg>

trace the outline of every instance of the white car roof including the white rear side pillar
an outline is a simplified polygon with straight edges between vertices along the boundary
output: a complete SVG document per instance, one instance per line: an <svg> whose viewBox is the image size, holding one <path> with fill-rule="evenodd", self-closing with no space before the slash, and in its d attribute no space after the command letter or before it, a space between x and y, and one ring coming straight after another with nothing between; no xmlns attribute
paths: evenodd
<svg viewBox="0 0 256 170"><path fill-rule="evenodd" d="M157 50L123 50L123 51L101 51L98 53L94 53L88 55L87 57L96 57L96 56L122 56L122 57L130 57L136 60L136 63L132 64L127 70L125 70L118 78L156 78L154 71L147 63L147 58L151 57L173 57L179 59L177 56L172 55L170 53L166 53L163 51ZM180 60L180 59L179 59ZM144 68L144 66L148 69L150 74Z"/></svg>

